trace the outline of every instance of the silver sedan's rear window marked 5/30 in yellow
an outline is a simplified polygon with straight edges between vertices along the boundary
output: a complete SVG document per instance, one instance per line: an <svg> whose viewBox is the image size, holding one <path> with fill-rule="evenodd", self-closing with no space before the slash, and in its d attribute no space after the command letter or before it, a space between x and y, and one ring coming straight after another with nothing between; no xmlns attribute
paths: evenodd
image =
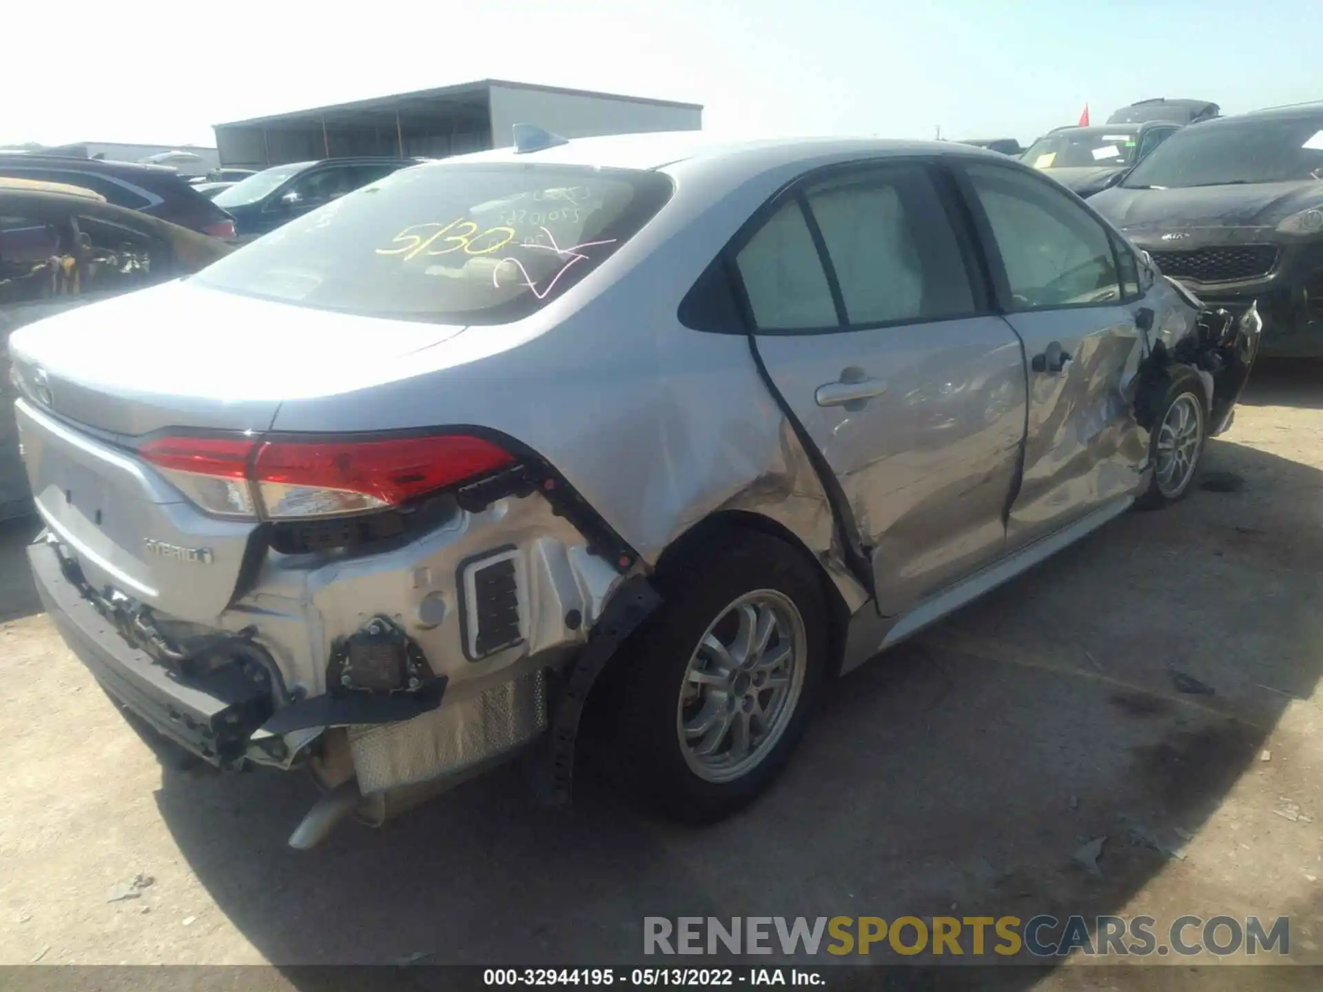
<svg viewBox="0 0 1323 992"><path fill-rule="evenodd" d="M320 310L438 323L528 316L671 196L656 172L418 165L340 197L193 276Z"/></svg>

